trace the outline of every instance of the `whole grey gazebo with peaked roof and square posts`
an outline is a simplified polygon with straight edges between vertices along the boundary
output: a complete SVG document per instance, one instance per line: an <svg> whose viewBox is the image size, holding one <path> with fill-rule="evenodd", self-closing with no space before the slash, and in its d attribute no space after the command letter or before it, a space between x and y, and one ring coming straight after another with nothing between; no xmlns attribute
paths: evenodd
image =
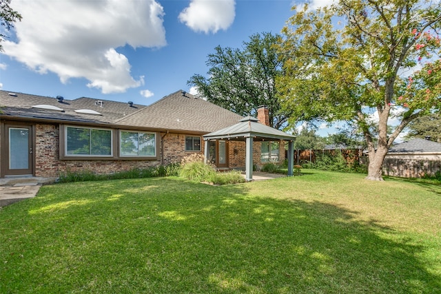
<svg viewBox="0 0 441 294"><path fill-rule="evenodd" d="M209 140L234 140L245 141L245 180L253 180L253 143L254 141L265 140L287 140L288 141L288 176L293 175L294 166L294 139L289 135L274 127L269 127L258 122L257 118L247 116L225 129L220 129L203 136L205 140L205 158L209 158Z"/></svg>

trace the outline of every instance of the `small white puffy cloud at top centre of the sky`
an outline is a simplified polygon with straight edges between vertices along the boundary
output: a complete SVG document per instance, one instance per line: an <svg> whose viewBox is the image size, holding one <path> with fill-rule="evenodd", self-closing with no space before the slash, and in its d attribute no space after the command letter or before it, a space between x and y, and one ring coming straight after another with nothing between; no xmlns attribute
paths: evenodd
<svg viewBox="0 0 441 294"><path fill-rule="evenodd" d="M178 19L195 32L216 33L232 25L235 6L234 0L192 0Z"/></svg>

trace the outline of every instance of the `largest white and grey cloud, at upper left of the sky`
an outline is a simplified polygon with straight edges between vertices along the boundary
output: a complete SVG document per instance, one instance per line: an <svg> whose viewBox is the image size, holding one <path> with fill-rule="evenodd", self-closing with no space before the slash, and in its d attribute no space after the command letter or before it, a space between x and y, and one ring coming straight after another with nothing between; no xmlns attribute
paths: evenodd
<svg viewBox="0 0 441 294"><path fill-rule="evenodd" d="M144 83L116 48L166 45L163 8L154 0L15 0L12 8L23 19L14 24L18 43L5 41L4 54L63 83L86 78L105 94Z"/></svg>

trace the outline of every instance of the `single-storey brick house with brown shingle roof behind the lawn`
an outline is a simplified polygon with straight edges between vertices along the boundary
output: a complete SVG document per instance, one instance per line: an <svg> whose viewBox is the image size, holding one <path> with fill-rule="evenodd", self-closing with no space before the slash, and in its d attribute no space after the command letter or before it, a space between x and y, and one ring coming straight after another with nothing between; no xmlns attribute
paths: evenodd
<svg viewBox="0 0 441 294"><path fill-rule="evenodd" d="M112 174L167 165L203 154L203 135L242 118L184 91L148 106L0 91L0 178L57 178L67 171ZM245 168L244 142L210 144L209 158L218 168ZM269 144L253 144L255 165L285 159L280 156L283 141Z"/></svg>

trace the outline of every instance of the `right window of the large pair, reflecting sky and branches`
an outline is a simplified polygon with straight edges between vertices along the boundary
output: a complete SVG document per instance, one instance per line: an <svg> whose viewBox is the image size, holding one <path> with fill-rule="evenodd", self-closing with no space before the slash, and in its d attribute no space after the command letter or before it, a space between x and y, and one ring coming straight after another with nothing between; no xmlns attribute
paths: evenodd
<svg viewBox="0 0 441 294"><path fill-rule="evenodd" d="M120 156L156 156L156 134L143 132L120 132Z"/></svg>

